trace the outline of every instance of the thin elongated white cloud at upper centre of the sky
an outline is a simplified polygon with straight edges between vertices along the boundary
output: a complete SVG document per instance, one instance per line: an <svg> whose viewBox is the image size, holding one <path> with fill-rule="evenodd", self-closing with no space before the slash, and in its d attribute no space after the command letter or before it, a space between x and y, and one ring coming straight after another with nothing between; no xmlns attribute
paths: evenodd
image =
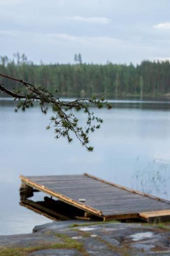
<svg viewBox="0 0 170 256"><path fill-rule="evenodd" d="M69 17L68 19L76 20L78 22L84 23L93 23L93 24L110 24L111 19L106 17L81 17L81 16L74 16Z"/></svg>

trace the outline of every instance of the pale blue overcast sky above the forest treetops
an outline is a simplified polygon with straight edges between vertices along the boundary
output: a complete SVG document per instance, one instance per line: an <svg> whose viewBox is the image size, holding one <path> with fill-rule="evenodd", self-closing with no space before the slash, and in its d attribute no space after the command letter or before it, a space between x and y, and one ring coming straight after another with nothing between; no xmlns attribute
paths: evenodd
<svg viewBox="0 0 170 256"><path fill-rule="evenodd" d="M170 0L0 0L0 55L45 63L170 59Z"/></svg>

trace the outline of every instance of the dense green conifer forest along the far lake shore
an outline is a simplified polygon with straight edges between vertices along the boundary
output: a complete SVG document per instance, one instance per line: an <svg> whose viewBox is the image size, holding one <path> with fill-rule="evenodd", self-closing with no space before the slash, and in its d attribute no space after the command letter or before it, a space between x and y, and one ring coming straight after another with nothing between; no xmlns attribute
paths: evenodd
<svg viewBox="0 0 170 256"><path fill-rule="evenodd" d="M1 73L26 80L56 93L59 97L157 97L170 93L169 61L144 60L140 65L86 64L81 54L75 54L75 64L39 65L25 54L16 53L11 60L1 56ZM1 78L9 89L21 89L20 84Z"/></svg>

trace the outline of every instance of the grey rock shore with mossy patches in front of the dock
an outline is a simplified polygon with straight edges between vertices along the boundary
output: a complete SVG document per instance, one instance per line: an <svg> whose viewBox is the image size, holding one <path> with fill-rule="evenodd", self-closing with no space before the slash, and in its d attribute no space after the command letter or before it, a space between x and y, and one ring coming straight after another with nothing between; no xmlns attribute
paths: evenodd
<svg viewBox="0 0 170 256"><path fill-rule="evenodd" d="M0 255L167 255L170 223L59 221L0 236Z"/></svg>

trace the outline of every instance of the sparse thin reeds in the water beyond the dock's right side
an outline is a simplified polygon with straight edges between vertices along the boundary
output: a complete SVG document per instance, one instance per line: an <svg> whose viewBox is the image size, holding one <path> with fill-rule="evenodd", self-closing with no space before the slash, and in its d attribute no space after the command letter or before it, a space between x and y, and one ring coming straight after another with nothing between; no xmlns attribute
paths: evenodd
<svg viewBox="0 0 170 256"><path fill-rule="evenodd" d="M143 193L156 196L167 196L167 184L169 183L168 164L154 159L144 168L140 168L140 159L136 158L136 169L132 175L132 187Z"/></svg>

